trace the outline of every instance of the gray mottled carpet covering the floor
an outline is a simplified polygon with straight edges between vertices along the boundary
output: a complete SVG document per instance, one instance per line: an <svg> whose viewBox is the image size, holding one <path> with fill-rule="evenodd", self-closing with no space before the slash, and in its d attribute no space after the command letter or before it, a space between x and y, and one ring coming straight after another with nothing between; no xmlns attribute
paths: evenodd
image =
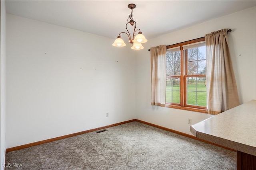
<svg viewBox="0 0 256 170"><path fill-rule="evenodd" d="M236 152L139 122L7 153L24 170L227 170Z"/></svg>

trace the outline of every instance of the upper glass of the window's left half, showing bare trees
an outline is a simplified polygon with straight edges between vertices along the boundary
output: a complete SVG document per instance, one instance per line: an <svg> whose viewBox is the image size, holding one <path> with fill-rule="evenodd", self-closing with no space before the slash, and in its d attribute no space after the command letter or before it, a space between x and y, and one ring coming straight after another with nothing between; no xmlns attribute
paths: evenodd
<svg viewBox="0 0 256 170"><path fill-rule="evenodd" d="M166 74L179 76L180 72L180 51L166 52Z"/></svg>

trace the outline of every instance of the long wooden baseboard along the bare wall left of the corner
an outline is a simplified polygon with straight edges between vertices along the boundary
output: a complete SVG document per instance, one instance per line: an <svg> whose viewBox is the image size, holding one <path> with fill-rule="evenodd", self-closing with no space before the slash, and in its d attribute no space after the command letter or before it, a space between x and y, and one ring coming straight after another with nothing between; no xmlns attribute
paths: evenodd
<svg viewBox="0 0 256 170"><path fill-rule="evenodd" d="M43 140L43 141L38 141L38 142L34 142L34 143L28 143L28 144L20 145L20 146L17 146L17 147L7 148L6 152L11 152L11 151L20 150L20 149L24 149L24 148L28 148L28 147L33 147L33 146L36 146L36 145L41 145L41 144L44 144L44 143L58 141L60 139L65 139L65 138L68 138L68 137L82 135L84 133L98 131L98 130L101 130L101 129L105 129L105 128L113 127L113 126L117 126L117 125L122 125L122 124L129 123L129 122L132 122L132 121L135 121L135 119L128 120L128 121L123 121L123 122L120 122L120 123L115 123L115 124L107 125L107 126L103 126L103 127L98 127L98 128L90 129L90 130L87 130L87 131L82 131L82 132L72 133L72 134L69 134L69 135L55 137L55 138L52 138L52 139L46 139L46 140Z"/></svg>

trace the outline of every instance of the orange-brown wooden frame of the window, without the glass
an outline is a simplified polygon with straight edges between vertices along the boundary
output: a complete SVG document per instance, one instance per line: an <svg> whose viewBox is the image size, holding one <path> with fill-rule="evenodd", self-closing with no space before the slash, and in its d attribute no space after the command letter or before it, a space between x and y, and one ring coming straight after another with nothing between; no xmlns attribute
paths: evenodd
<svg viewBox="0 0 256 170"><path fill-rule="evenodd" d="M205 41L205 37L201 37L198 39L192 39L190 41L184 41L182 43L177 43L177 44L173 44L173 45L168 45L167 49L170 48L174 48L174 47L180 47L180 71L181 71L181 75L180 76L171 76L173 77L178 77L180 78L180 104L176 104L176 103L171 103L171 102L166 102L165 107L170 107L170 108L175 108L175 109L184 109L184 110L189 110L189 111L197 111L197 112L201 112L201 113L207 113L206 107L202 107L202 106L194 106L194 105L188 105L186 104L186 79L187 77L191 77L191 76L196 76L196 77L204 77L205 74L196 74L196 75L187 75L186 72L187 69L185 69L185 67L187 68L187 61L184 57L184 51L183 51L183 45L188 45L188 44L192 44L192 43L198 43L201 41Z"/></svg>

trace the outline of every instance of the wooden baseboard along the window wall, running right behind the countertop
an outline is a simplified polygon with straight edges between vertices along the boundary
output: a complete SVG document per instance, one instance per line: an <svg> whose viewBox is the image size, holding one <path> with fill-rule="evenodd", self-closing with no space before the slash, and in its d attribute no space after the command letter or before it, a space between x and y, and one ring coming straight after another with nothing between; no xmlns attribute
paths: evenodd
<svg viewBox="0 0 256 170"><path fill-rule="evenodd" d="M142 121L142 120L138 120L138 119L135 119L135 121L138 121L140 123L144 123L146 125L150 125L150 126L153 126L153 127L157 127L159 129L163 129L163 130L166 130L166 131L170 131L170 132L173 132L173 133L176 133L178 135L182 135L182 136L185 136L185 137L189 137L189 138L192 138L192 139L195 139L195 140L198 140L198 141L201 141L201 142L205 142L205 143L209 143L211 145L215 145L217 147L221 147L221 148L224 148L224 149L228 149L228 150L232 150L234 152L236 152L236 150L234 149L231 149L231 148L228 148L228 147L224 147L222 145L218 145L218 144L215 144L215 143L211 143L211 142L208 142L208 141L205 141L205 140L202 140L202 139L198 139L197 137L194 137L193 135L188 135L186 133L182 133L182 132L179 132L179 131L175 131L175 130L172 130L172 129L168 129L166 127L162 127L162 126L159 126L159 125L155 125L155 124L152 124L152 123L148 123L146 121Z"/></svg>

